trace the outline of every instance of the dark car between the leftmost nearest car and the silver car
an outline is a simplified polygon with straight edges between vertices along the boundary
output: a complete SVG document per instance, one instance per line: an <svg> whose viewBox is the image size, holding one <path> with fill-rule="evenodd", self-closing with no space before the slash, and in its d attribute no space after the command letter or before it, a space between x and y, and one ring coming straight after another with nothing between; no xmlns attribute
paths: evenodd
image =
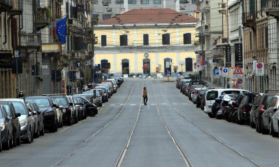
<svg viewBox="0 0 279 167"><path fill-rule="evenodd" d="M19 112L15 112L14 105L11 101L0 101L0 104L3 105L6 109L8 116L12 122L12 134L13 134L13 147L20 145L20 124L18 117L21 116Z"/></svg>

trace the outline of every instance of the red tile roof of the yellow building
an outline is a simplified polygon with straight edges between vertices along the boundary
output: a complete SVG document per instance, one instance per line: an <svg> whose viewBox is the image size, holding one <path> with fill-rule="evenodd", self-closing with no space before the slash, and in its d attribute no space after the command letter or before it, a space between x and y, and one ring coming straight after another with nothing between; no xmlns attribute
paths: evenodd
<svg viewBox="0 0 279 167"><path fill-rule="evenodd" d="M171 20L177 15L178 12L169 8L164 9L133 9L119 15L121 22L117 18L107 19L98 23L99 25L112 25L112 24L142 24L142 23L196 23L198 19L183 14L175 20ZM118 17L118 16L117 16Z"/></svg>

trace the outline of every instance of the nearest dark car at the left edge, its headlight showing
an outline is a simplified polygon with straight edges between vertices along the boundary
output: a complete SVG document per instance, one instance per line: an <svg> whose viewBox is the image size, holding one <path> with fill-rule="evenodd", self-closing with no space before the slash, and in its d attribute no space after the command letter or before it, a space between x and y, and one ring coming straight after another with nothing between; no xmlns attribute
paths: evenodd
<svg viewBox="0 0 279 167"><path fill-rule="evenodd" d="M0 105L0 130L3 149L13 148L12 120L3 105Z"/></svg>

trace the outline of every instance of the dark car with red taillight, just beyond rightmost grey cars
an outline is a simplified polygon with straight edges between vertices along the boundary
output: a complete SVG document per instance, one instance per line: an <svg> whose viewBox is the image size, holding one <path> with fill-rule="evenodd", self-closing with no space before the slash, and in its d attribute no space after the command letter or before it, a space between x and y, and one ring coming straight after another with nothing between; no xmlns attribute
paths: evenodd
<svg viewBox="0 0 279 167"><path fill-rule="evenodd" d="M262 114L264 113L265 109L269 103L269 101L272 99L274 95L276 95L279 92L266 92L261 95L259 106L257 107L257 110L255 110L255 119L256 119L256 131L258 133L262 133L262 130L264 130L264 125L262 124ZM266 107L264 107L266 106ZM255 107L255 106L254 106ZM266 131L264 131L266 133Z"/></svg>

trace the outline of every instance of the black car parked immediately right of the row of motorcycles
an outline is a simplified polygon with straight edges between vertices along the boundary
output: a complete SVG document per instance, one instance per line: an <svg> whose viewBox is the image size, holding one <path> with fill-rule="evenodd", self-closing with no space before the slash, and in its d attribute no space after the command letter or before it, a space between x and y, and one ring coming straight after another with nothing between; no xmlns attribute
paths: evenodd
<svg viewBox="0 0 279 167"><path fill-rule="evenodd" d="M258 93L244 93L244 96L237 109L237 124L246 123L250 126L250 111L254 104L254 98Z"/></svg>

